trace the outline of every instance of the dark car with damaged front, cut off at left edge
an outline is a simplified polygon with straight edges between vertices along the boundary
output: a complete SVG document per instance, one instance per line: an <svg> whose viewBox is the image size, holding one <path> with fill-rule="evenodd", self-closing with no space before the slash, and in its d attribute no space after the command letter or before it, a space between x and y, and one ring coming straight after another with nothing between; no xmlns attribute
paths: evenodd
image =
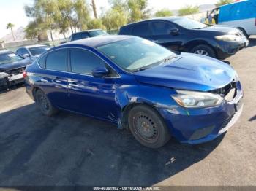
<svg viewBox="0 0 256 191"><path fill-rule="evenodd" d="M10 50L0 51L0 90L24 82L23 71L29 64L28 58L24 59Z"/></svg>

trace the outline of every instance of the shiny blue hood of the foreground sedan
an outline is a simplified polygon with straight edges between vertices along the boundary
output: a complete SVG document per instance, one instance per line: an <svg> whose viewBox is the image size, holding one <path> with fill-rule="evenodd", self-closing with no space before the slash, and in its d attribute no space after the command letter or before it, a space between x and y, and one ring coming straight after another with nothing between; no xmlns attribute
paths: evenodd
<svg viewBox="0 0 256 191"><path fill-rule="evenodd" d="M181 53L176 60L134 73L138 82L180 90L209 91L224 87L236 76L227 63L214 58Z"/></svg>

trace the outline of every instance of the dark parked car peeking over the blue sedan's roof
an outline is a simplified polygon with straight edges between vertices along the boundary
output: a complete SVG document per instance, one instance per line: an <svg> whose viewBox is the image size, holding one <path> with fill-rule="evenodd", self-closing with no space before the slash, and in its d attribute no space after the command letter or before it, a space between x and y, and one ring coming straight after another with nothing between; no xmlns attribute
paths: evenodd
<svg viewBox="0 0 256 191"><path fill-rule="evenodd" d="M94 36L106 36L108 33L103 31L102 29L92 29L88 31L80 31L78 33L74 33L69 37L69 41L79 40L79 39L86 39L91 38Z"/></svg>

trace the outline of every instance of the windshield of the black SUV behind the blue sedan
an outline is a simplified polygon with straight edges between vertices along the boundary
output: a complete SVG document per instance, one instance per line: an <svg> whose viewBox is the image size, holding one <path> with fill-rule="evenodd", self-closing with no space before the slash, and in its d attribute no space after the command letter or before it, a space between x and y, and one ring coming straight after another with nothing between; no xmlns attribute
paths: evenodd
<svg viewBox="0 0 256 191"><path fill-rule="evenodd" d="M200 28L208 27L203 23L200 23L196 20L189 19L187 17L179 17L172 20L172 22L176 23L178 26L182 26L187 29L200 29Z"/></svg>

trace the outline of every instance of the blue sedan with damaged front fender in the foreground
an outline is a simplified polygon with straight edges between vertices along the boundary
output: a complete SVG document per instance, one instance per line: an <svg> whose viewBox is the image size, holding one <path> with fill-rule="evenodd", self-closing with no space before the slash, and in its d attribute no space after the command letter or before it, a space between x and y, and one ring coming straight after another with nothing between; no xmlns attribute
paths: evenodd
<svg viewBox="0 0 256 191"><path fill-rule="evenodd" d="M61 44L26 68L26 91L43 114L67 110L129 128L146 147L171 137L200 144L241 115L236 71L203 55L176 54L135 36Z"/></svg>

